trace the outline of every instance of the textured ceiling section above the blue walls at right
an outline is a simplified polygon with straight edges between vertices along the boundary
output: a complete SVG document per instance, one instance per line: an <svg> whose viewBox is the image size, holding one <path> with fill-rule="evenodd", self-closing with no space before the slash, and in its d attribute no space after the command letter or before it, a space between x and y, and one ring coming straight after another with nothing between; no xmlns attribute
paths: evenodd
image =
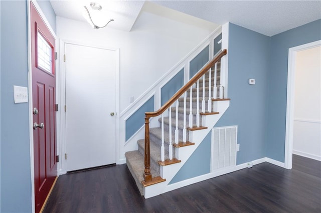
<svg viewBox="0 0 321 213"><path fill-rule="evenodd" d="M164 0L163 6L218 24L274 35L321 18L320 0Z"/></svg>

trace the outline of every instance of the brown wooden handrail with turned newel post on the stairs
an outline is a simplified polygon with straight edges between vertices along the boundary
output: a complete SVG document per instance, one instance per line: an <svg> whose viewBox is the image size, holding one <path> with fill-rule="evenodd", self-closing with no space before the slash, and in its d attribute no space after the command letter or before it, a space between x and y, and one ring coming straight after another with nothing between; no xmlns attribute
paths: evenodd
<svg viewBox="0 0 321 213"><path fill-rule="evenodd" d="M149 118L155 117L167 110L179 97L181 97L184 92L186 92L194 83L197 82L216 62L218 62L224 55L227 54L227 50L223 49L218 52L215 57L194 77L192 77L189 82L187 82L180 90L178 90L171 99L169 99L161 108L154 112L145 112L145 169L144 169L144 180L145 182L151 181L150 173L150 148L149 148Z"/></svg>

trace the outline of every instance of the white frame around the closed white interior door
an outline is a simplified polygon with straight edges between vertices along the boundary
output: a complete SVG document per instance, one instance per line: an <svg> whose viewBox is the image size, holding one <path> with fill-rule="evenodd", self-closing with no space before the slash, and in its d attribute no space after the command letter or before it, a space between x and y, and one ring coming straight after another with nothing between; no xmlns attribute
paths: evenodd
<svg viewBox="0 0 321 213"><path fill-rule="evenodd" d="M58 174L65 174L67 172L67 165L66 165L66 159L65 159L65 153L66 153L66 113L64 111L64 105L66 105L66 81L65 81L65 61L64 61L64 54L65 54L65 43L75 44L75 45L82 45L82 46L90 46L95 48L103 48L115 51L116 54L116 164L121 164L119 160L119 61L120 61L120 54L119 54L119 48L112 48L104 45L97 45L96 43L90 43L90 42L80 42L75 40L69 40L64 38L59 38L59 52L58 52L58 58L59 59L59 66L60 66L60 73L57 77L58 86L57 86L57 102L59 102L59 110L57 114L57 152L59 152L59 155L61 157L58 163ZM68 57L68 56L67 56ZM58 116L59 116L59 123L58 123ZM58 142L59 139L59 142ZM68 156L67 156L68 158Z"/></svg>

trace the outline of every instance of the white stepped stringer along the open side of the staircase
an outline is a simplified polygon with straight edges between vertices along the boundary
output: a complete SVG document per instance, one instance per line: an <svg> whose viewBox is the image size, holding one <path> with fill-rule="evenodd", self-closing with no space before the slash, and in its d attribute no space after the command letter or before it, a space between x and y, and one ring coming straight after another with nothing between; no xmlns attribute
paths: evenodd
<svg viewBox="0 0 321 213"><path fill-rule="evenodd" d="M189 131L190 141L193 141L195 145L175 148L176 158L181 160L181 162L164 166L161 165L161 176L162 178L165 178L166 181L144 187L143 194L145 198L153 197L165 193L167 191L176 189L170 187L169 183L179 172L179 170L185 164L185 162L190 158L190 156L197 149L197 147L201 144L206 135L212 130L213 126L217 123L217 121L221 118L221 116L224 114L224 112L230 105L230 100L220 100L213 102L215 102L217 111L220 113L212 115L202 115L202 126L206 126L207 128ZM180 185L180 187L186 185L183 184Z"/></svg>

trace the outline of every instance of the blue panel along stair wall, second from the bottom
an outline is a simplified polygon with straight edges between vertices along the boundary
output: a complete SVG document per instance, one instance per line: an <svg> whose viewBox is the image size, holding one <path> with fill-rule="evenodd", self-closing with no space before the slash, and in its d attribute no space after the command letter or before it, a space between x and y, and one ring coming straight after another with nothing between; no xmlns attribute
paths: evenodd
<svg viewBox="0 0 321 213"><path fill-rule="evenodd" d="M184 85L184 68L161 89L161 104L164 105Z"/></svg>

